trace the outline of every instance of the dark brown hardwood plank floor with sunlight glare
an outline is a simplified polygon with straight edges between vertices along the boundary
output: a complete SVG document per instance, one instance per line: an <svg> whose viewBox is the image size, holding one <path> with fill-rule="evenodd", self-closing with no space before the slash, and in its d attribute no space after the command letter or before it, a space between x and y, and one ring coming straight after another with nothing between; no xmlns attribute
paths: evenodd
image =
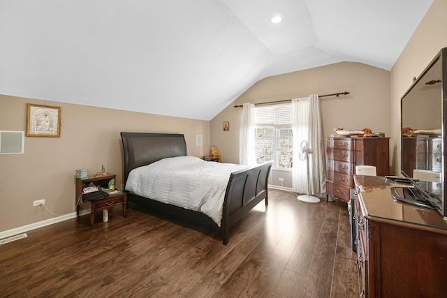
<svg viewBox="0 0 447 298"><path fill-rule="evenodd" d="M29 231L0 246L0 297L359 297L346 203L269 194L227 246L133 208Z"/></svg>

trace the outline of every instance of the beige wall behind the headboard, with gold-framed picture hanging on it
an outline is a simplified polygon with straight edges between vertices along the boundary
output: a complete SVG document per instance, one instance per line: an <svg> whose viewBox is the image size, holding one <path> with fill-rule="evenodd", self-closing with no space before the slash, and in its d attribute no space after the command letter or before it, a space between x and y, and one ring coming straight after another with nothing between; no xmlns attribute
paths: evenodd
<svg viewBox="0 0 447 298"><path fill-rule="evenodd" d="M75 211L75 170L117 174L122 185L121 131L184 133L188 153L207 155L210 122L0 95L0 130L25 131L27 103L61 107L60 137L25 137L24 154L0 155L0 232ZM196 146L196 135L203 145Z"/></svg>

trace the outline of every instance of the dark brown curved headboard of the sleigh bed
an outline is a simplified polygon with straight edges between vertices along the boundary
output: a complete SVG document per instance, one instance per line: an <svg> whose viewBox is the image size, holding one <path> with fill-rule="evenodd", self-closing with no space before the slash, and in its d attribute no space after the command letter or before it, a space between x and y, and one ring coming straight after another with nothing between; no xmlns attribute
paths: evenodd
<svg viewBox="0 0 447 298"><path fill-rule="evenodd" d="M124 184L135 167L162 158L186 156L184 135L173 133L121 133L124 151Z"/></svg>

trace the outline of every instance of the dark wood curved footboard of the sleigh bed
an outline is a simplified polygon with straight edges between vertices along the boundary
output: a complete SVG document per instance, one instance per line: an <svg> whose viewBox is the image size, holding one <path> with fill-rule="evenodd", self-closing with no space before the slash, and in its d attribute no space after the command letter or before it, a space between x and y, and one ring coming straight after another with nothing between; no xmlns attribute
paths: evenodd
<svg viewBox="0 0 447 298"><path fill-rule="evenodd" d="M230 227L265 199L268 204L268 177L272 161L230 174L223 201L222 241L228 244Z"/></svg>

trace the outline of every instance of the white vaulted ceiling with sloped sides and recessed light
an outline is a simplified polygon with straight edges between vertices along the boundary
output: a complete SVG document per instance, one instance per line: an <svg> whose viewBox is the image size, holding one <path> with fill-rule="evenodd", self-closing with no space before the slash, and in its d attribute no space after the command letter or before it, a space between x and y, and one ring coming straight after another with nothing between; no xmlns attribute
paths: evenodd
<svg viewBox="0 0 447 298"><path fill-rule="evenodd" d="M0 94L210 120L270 75L390 70L432 1L0 0Z"/></svg>

